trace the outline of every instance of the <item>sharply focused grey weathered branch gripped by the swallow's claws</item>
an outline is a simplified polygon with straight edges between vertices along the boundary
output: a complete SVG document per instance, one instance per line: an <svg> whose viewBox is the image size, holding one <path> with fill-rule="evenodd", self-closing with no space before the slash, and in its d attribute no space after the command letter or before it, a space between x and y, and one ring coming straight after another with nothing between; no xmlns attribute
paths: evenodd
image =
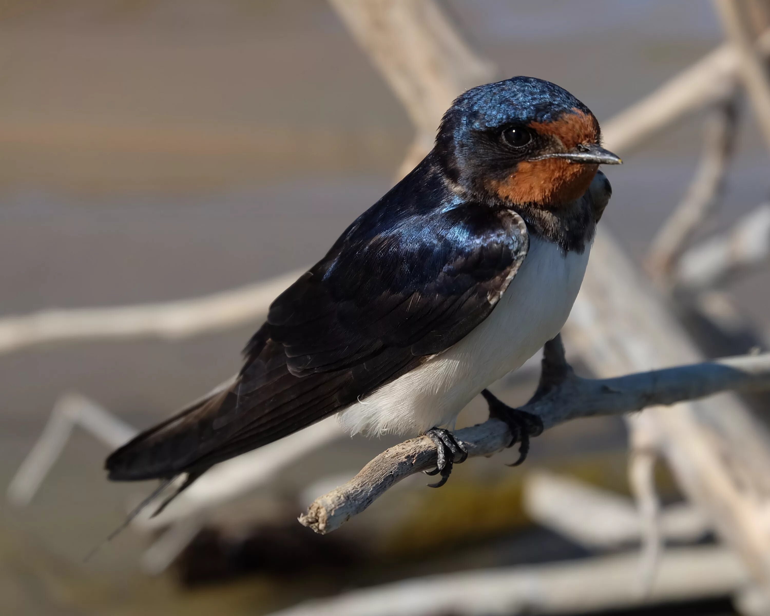
<svg viewBox="0 0 770 616"><path fill-rule="evenodd" d="M544 355L544 374L560 368L563 357L551 341ZM554 353L555 352L555 353ZM555 356L556 360L547 358ZM567 370L558 384L547 378L533 399L521 407L541 418L549 428L576 417L611 415L641 410L658 404L695 400L725 390L770 389L770 354L733 357L691 366L653 370L614 379L584 379ZM490 419L457 431L470 457L489 456L511 441L507 426ZM436 464L436 448L427 437L407 440L391 447L363 467L356 477L329 494L317 498L300 523L317 533L336 530L360 514L397 481Z"/></svg>

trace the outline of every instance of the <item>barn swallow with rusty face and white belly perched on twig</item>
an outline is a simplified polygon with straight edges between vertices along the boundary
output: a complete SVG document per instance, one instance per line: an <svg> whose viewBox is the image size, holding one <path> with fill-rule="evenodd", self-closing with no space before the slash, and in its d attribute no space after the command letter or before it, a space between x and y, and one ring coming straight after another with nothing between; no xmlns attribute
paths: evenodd
<svg viewBox="0 0 770 616"><path fill-rule="evenodd" d="M611 196L598 168L621 162L600 144L551 82L464 92L434 149L276 298L236 377L116 450L109 478L184 475L181 491L336 413L353 434L426 434L437 487L467 456L447 427L479 393L524 457L542 424L486 388L567 320Z"/></svg>

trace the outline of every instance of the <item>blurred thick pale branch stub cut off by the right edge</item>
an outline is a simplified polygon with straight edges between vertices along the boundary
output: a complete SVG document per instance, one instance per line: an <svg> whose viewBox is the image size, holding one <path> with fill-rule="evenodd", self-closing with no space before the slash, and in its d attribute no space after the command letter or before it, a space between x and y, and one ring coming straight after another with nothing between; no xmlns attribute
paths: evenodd
<svg viewBox="0 0 770 616"><path fill-rule="evenodd" d="M679 289L713 289L770 259L770 204L742 216L732 229L722 231L688 249L676 266Z"/></svg>

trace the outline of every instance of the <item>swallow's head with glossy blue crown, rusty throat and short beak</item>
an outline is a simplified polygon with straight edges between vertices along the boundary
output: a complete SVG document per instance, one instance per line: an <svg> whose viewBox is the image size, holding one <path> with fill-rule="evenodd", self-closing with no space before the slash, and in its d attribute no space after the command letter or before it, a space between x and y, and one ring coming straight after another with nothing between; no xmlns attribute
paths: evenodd
<svg viewBox="0 0 770 616"><path fill-rule="evenodd" d="M621 162L600 139L594 114L567 90L514 77L460 95L434 152L478 198L557 209L584 194L599 165Z"/></svg>

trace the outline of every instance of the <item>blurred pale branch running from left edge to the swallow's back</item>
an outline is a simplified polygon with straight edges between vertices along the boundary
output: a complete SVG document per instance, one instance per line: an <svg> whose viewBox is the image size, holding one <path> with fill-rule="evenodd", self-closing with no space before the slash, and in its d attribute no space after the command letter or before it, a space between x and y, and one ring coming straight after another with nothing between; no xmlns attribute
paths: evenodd
<svg viewBox="0 0 770 616"><path fill-rule="evenodd" d="M263 319L270 303L304 271L192 300L5 316L0 319L0 353L71 340L175 340L226 330Z"/></svg>

